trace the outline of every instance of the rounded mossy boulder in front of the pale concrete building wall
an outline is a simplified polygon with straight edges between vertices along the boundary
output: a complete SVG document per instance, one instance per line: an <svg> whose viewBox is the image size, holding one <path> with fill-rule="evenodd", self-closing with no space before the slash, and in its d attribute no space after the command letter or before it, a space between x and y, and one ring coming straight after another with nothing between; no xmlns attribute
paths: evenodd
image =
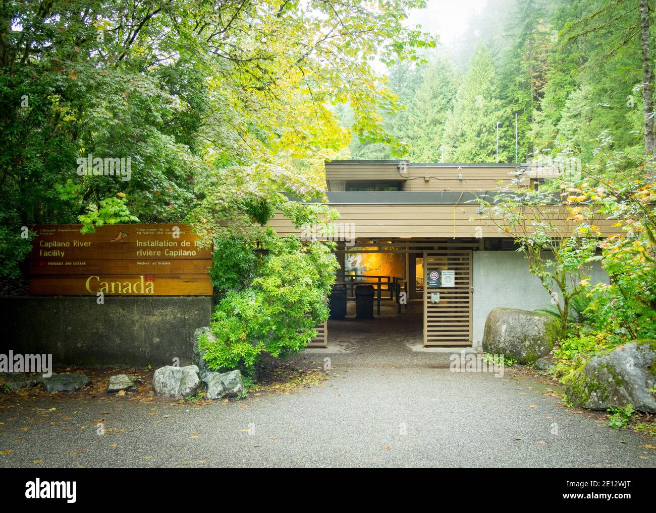
<svg viewBox="0 0 656 513"><path fill-rule="evenodd" d="M558 337L558 319L554 316L495 308L485 320L483 351L512 356L520 364L532 364L554 348Z"/></svg>

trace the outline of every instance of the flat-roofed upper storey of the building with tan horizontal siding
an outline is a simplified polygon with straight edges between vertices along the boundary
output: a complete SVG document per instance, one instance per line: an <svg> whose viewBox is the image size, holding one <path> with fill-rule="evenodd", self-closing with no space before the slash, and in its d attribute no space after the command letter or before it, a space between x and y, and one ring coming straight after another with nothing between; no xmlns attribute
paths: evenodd
<svg viewBox="0 0 656 513"><path fill-rule="evenodd" d="M337 191L491 191L535 188L556 176L531 164L415 164L409 161L331 161L326 185Z"/></svg>

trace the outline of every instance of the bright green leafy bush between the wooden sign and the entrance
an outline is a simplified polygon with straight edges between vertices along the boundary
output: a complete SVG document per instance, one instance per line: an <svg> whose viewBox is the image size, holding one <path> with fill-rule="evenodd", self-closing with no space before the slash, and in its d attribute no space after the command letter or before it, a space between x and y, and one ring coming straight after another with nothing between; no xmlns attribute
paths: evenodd
<svg viewBox="0 0 656 513"><path fill-rule="evenodd" d="M226 241L219 246L232 244ZM325 296L338 264L331 252L333 244L278 237L271 229L252 257L245 256L247 246L237 247L235 254L219 257L221 268L235 273L235 279L231 282L228 277L224 284L238 285L241 276L236 269L251 269L253 278L239 290L227 290L210 326L216 340L203 337L199 345L207 351L209 368L239 368L250 374L261 352L285 357L302 351L316 337L314 327L328 318Z"/></svg>

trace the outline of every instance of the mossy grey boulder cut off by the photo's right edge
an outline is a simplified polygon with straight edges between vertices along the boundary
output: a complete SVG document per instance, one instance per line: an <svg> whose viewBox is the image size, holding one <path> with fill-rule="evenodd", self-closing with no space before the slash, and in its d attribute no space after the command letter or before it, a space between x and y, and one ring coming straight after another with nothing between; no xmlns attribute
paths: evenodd
<svg viewBox="0 0 656 513"><path fill-rule="evenodd" d="M656 413L656 341L635 341L594 356L567 380L565 393L576 406L623 408Z"/></svg>

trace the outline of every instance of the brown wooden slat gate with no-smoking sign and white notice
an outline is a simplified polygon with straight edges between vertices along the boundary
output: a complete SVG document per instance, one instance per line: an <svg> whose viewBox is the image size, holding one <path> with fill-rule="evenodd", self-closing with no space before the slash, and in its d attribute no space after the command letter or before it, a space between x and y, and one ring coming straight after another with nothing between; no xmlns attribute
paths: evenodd
<svg viewBox="0 0 656 513"><path fill-rule="evenodd" d="M431 271L455 271L453 287L429 287ZM431 302L439 292L440 301ZM472 345L472 252L424 251L424 345Z"/></svg>

